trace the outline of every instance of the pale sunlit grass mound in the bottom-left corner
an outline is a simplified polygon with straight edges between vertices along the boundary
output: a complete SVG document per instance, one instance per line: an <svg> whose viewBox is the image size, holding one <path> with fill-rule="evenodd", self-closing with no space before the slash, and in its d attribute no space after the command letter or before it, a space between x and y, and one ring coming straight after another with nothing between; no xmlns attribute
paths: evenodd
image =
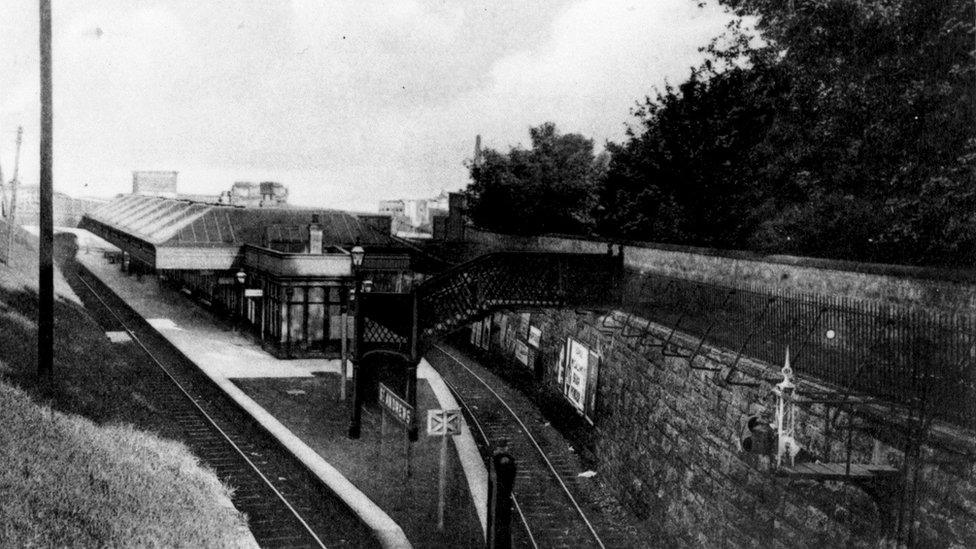
<svg viewBox="0 0 976 549"><path fill-rule="evenodd" d="M0 385L0 538L22 546L227 546L243 523L186 448Z"/></svg>

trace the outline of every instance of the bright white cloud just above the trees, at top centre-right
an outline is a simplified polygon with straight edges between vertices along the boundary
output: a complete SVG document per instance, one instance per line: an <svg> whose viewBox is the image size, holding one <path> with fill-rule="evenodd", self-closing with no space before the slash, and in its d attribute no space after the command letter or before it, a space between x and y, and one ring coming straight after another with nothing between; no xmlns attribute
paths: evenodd
<svg viewBox="0 0 976 549"><path fill-rule="evenodd" d="M576 2L555 20L548 44L497 61L491 87L469 100L487 117L520 113L523 139L527 124L544 120L597 141L619 139L635 103L683 80L702 60L698 48L729 19L687 0ZM514 137L511 124L495 124L501 137Z"/></svg>

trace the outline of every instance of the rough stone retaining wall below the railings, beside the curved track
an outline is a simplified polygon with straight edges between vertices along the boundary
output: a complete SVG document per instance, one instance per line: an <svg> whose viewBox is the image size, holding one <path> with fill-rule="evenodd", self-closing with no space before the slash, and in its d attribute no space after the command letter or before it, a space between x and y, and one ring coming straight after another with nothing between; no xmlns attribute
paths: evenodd
<svg viewBox="0 0 976 549"><path fill-rule="evenodd" d="M531 324L542 330L534 360L539 392L549 398L562 394L557 379L566 338L600 355L585 454L595 461L603 482L640 519L694 547L876 546L897 535L902 501L897 494L886 501L886 508L851 484L779 478L769 457L742 451L747 418L772 418L771 388L781 379L778 368L744 362L733 380L758 381L758 386L729 384L730 356L720 349L705 347L704 358L696 361L700 367L720 368L707 372L689 368L685 359L664 356L659 347L635 347L633 340L620 336L613 318L547 310L533 312ZM661 326L650 328L667 333ZM678 348L673 351L687 353L697 346L697 340L681 334L674 341ZM901 422L884 409L858 410L851 437L853 461L873 459L902 467L906 439ZM833 429L826 426L828 416L834 419ZM836 408L805 406L799 417L800 443L821 460L843 461L847 420ZM976 447L967 438L972 433L940 433L939 442L922 448L918 490L906 494L901 514L905 524L914 519L917 527L900 531L911 531L918 546L976 547ZM913 470L907 468L907 478Z"/></svg>

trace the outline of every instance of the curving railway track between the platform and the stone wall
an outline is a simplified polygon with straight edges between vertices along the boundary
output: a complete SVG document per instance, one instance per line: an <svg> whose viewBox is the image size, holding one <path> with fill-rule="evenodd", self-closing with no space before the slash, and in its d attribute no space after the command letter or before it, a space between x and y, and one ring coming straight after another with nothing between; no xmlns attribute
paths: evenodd
<svg viewBox="0 0 976 549"><path fill-rule="evenodd" d="M513 543L526 547L599 547L629 545L613 535L601 534L570 485L576 482L576 466L564 457L550 456L545 440L525 425L501 392L451 351L439 345L431 350L447 357L459 368L441 371L474 431L488 447L507 443L517 472L512 500L515 514ZM434 353L428 353L432 358ZM607 541L604 538L607 537Z"/></svg>

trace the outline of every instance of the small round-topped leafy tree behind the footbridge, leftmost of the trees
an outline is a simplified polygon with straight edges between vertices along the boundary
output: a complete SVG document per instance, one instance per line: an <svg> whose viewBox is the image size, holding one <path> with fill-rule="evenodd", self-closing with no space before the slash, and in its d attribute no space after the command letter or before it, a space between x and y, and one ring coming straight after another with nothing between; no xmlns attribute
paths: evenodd
<svg viewBox="0 0 976 549"><path fill-rule="evenodd" d="M591 139L560 134L551 122L529 134L531 149L487 149L471 165L466 192L472 220L516 234L589 233L606 160L594 156Z"/></svg>

